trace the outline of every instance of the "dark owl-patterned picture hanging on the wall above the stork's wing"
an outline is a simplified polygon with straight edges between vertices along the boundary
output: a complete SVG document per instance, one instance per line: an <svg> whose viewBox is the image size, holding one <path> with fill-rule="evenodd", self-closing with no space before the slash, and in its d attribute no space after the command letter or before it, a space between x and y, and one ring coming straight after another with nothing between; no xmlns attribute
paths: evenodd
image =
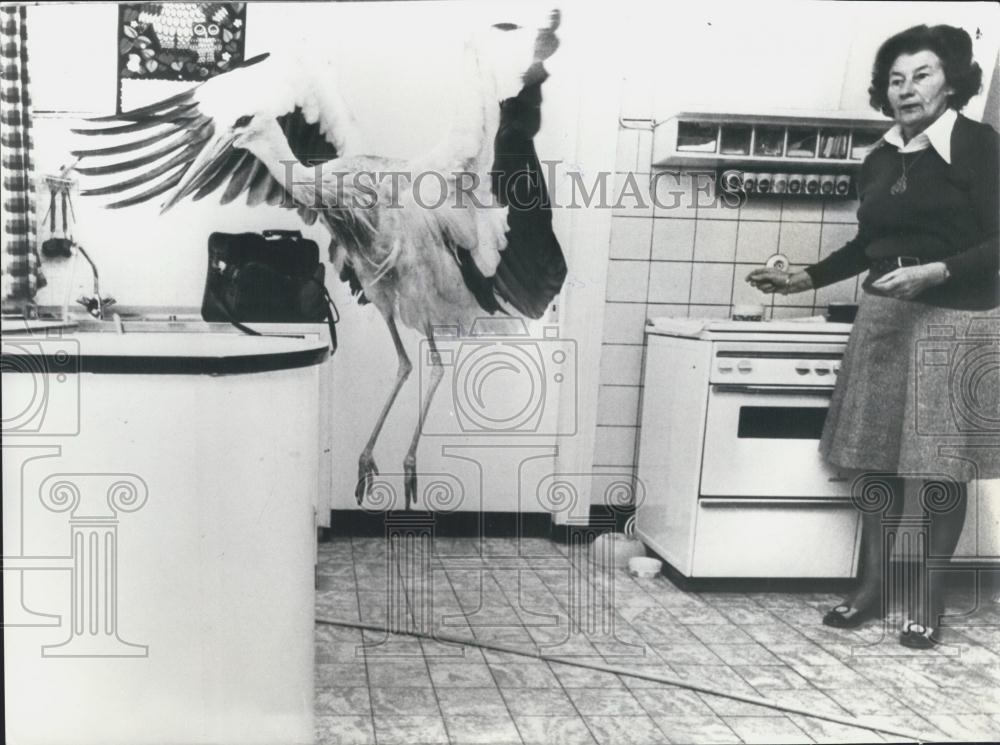
<svg viewBox="0 0 1000 745"><path fill-rule="evenodd" d="M117 36L121 112L133 81L201 82L239 65L246 3L125 3Z"/></svg>

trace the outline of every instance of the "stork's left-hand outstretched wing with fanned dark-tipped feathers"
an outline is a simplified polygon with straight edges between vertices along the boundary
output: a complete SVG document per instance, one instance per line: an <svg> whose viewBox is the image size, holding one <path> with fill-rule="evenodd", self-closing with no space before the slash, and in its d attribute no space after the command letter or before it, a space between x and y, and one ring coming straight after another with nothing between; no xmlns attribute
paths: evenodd
<svg viewBox="0 0 1000 745"><path fill-rule="evenodd" d="M247 150L234 148L226 135L241 114L274 116L292 152L303 164L331 160L338 155L336 138L329 132L329 117L310 100L310 91L277 97L263 109L253 106L254 78L272 78L273 71L246 69L267 55L248 60L236 70L185 93L114 116L91 119L92 125L75 129L88 137L114 137L115 144L81 149L76 170L101 178L100 186L84 195L120 197L108 207L128 207L173 190L163 205L169 209L186 197L195 200L222 189L222 204L246 194L247 204L295 207L285 188L263 163ZM261 67L266 67L265 63ZM290 88L286 86L286 90ZM221 104L220 104L221 101ZM240 108L237 102L242 103ZM227 121L226 118L231 118ZM128 139L122 140L124 136ZM108 178L108 177L114 178ZM300 210L308 222L311 211Z"/></svg>

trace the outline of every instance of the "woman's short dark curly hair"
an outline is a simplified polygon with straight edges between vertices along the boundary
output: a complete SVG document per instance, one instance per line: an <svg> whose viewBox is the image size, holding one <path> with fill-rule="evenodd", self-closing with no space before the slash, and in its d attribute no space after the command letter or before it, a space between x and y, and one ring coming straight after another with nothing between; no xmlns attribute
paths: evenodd
<svg viewBox="0 0 1000 745"><path fill-rule="evenodd" d="M900 31L882 43L872 66L872 84L868 100L873 109L892 116L889 105L889 71L901 54L934 52L944 67L944 77L955 91L948 96L948 106L960 111L982 88L983 71L972 59L972 39L965 29L955 26L914 26Z"/></svg>

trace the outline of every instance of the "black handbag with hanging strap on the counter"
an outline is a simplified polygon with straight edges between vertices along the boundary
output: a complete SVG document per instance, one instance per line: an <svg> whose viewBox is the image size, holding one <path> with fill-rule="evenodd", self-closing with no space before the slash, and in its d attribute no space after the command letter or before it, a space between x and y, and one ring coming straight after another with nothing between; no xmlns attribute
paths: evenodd
<svg viewBox="0 0 1000 745"><path fill-rule="evenodd" d="M326 321L336 351L340 317L325 276L319 246L297 230L212 233L201 317L228 321L254 336L259 332L245 323Z"/></svg>

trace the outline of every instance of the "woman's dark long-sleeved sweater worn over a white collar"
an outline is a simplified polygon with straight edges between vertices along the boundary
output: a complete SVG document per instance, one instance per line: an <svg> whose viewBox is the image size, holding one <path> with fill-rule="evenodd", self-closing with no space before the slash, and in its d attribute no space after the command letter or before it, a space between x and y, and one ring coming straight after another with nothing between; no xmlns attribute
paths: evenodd
<svg viewBox="0 0 1000 745"><path fill-rule="evenodd" d="M902 174L902 156L882 142L858 176L858 234L822 261L806 267L814 287L870 268L874 259L912 256L943 261L950 277L915 300L967 310L1000 306L1000 136L988 124L959 116L951 135L951 164L933 146L906 154L907 188L890 189ZM871 283L865 292L880 294Z"/></svg>

